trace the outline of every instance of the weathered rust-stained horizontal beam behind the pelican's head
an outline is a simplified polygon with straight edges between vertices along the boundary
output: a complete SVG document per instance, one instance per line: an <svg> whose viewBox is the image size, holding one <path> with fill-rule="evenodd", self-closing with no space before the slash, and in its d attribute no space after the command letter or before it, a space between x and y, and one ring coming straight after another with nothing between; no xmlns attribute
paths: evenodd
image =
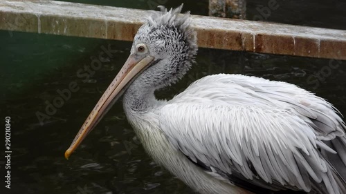
<svg viewBox="0 0 346 194"><path fill-rule="evenodd" d="M45 0L0 1L0 30L132 41L150 12ZM346 31L192 15L204 48L346 59Z"/></svg>

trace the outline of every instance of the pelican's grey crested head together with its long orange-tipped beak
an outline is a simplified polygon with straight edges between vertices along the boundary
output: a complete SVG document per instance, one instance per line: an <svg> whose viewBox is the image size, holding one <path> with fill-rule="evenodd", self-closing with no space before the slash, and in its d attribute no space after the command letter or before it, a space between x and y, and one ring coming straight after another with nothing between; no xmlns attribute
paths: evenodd
<svg viewBox="0 0 346 194"><path fill-rule="evenodd" d="M183 5L170 11L163 6L159 8L161 12L155 12L139 28L129 58L75 136L65 153L66 159L129 87L131 91L140 88L154 93L158 88L174 84L192 66L197 54L197 33L190 28L190 12L179 15ZM143 104L132 106L140 110Z"/></svg>

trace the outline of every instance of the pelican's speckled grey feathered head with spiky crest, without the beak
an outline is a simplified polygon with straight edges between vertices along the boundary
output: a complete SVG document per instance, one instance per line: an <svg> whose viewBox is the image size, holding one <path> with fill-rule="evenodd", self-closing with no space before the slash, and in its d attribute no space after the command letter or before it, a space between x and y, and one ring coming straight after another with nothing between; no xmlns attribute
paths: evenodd
<svg viewBox="0 0 346 194"><path fill-rule="evenodd" d="M146 80L156 89L183 77L197 54L197 37L190 28L190 12L179 17L183 5L170 11L158 7L161 12L155 12L139 28L129 57L135 61L145 57L153 59L142 76L147 76Z"/></svg>

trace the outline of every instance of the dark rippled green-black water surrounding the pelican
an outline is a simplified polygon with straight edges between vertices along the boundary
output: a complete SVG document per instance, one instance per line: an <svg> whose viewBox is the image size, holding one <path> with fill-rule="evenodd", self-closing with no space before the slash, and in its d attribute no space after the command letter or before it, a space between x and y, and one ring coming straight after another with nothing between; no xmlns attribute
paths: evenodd
<svg viewBox="0 0 346 194"><path fill-rule="evenodd" d="M147 0L122 2L99 1L108 6L149 9ZM192 9L193 14L206 14L207 1L199 2L185 3L186 9ZM345 29L345 14L338 12L343 4L323 2L289 4L277 0L280 7L268 20ZM166 5L180 3L168 1ZM258 14L256 8L266 3L248 1L248 17L253 18ZM311 8L309 12L306 5ZM289 14L289 10L297 17ZM147 157L127 124L121 101L71 159L64 159L64 151L84 119L129 55L130 42L0 31L0 43L1 119L10 116L12 124L11 190L4 190L3 184L0 193L192 193ZM91 65L102 52L102 46L110 46L113 55L104 57L100 69L88 73L89 79L78 76L78 72L85 75L84 66ZM338 67L330 68L330 63ZM158 92L158 97L170 98L192 81L220 72L297 84L328 99L346 114L346 62L329 59L200 49L197 65L179 84ZM64 100L61 108L48 110L56 113L40 124L37 113L48 114L46 107L60 96L57 91L68 89L73 81L78 90L71 93L69 100ZM3 177L5 163L0 162Z"/></svg>

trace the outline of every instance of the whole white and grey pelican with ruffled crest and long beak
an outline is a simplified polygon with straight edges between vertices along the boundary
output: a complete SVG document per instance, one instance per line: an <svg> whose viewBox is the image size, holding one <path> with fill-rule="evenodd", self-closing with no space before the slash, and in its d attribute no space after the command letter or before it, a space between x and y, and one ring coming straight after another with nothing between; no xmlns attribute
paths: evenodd
<svg viewBox="0 0 346 194"><path fill-rule="evenodd" d="M173 99L197 55L183 5L150 16L129 58L65 153L68 159L116 100L145 151L198 193L346 193L346 136L325 99L281 81L210 75Z"/></svg>

